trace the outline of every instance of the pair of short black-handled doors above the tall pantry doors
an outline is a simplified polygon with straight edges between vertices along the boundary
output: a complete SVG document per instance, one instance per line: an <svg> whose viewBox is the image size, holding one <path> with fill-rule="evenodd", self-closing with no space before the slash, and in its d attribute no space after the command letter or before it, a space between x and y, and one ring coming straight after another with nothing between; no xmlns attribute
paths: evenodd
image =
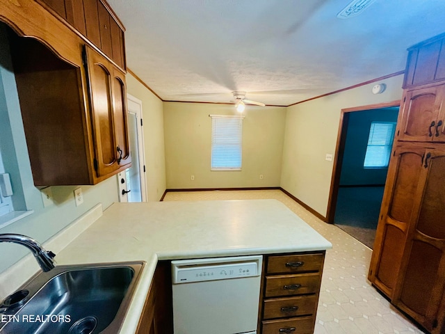
<svg viewBox="0 0 445 334"><path fill-rule="evenodd" d="M445 141L441 111L445 85L408 90L399 120L399 141Z"/></svg>

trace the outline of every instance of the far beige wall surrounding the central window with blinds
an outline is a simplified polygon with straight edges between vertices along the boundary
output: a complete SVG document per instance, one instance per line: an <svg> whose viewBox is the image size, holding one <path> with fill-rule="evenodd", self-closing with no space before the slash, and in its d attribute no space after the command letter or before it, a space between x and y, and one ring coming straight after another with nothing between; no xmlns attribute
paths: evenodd
<svg viewBox="0 0 445 334"><path fill-rule="evenodd" d="M280 186L286 108L246 108L241 171L210 170L211 114L236 111L230 104L164 103L167 189Z"/></svg>

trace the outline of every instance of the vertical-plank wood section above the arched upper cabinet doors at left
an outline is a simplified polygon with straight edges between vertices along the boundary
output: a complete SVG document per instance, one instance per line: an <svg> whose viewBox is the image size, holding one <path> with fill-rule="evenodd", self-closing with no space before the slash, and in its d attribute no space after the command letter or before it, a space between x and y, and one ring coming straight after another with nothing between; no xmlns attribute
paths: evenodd
<svg viewBox="0 0 445 334"><path fill-rule="evenodd" d="M102 0L35 0L70 24L122 70L126 70L124 28Z"/></svg>

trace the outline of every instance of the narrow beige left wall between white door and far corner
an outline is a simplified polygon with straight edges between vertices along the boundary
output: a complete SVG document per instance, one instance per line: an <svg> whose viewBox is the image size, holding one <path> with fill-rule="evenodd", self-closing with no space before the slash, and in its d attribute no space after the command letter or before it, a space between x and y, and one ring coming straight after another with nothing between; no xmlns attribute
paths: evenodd
<svg viewBox="0 0 445 334"><path fill-rule="evenodd" d="M142 101L147 200L160 200L165 191L163 102L127 74L127 92Z"/></svg>

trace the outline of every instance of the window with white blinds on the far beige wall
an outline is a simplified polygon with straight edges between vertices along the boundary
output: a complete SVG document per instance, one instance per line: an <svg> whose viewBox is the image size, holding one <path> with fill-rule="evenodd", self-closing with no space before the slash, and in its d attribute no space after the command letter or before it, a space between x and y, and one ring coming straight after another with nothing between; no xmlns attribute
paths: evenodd
<svg viewBox="0 0 445 334"><path fill-rule="evenodd" d="M241 170L243 116L210 117L211 170Z"/></svg>

